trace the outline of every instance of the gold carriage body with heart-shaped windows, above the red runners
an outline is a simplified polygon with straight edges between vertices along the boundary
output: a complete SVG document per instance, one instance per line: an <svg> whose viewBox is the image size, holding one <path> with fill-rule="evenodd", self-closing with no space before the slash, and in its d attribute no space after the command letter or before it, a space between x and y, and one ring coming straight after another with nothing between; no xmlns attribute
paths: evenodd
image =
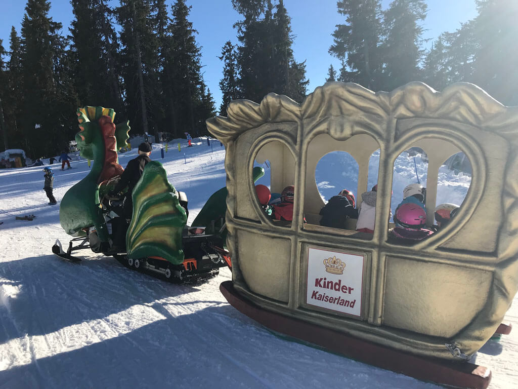
<svg viewBox="0 0 518 389"><path fill-rule="evenodd" d="M302 104L274 93L261 104L234 101L227 117L207 124L227 152L229 287L249 309L450 361L469 358L494 334L518 279L517 109L470 84L436 92L413 82L374 93L330 82ZM444 161L463 152L472 178L456 223L408 246L387 240L386 220L394 161L411 147L429 159L428 223ZM356 232L353 219L347 230L319 226L318 161L349 152L362 193L378 149L375 232ZM262 212L250 179L254 161L269 161L272 192L295 186L292 223Z"/></svg>

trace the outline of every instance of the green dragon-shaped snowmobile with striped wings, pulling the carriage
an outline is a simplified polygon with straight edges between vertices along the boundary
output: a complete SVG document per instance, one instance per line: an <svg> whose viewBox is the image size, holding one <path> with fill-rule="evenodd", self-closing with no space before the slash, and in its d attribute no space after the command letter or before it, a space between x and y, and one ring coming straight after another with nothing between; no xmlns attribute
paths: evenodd
<svg viewBox="0 0 518 389"><path fill-rule="evenodd" d="M133 216L127 224L122 216L122 197L109 193L124 171L118 163L117 149L126 147L130 126L113 124L114 115L110 108L78 109L80 131L76 142L81 156L94 163L90 173L65 193L60 204L61 226L74 238L66 251L56 240L52 252L80 262L73 252L90 248L94 253L113 256L128 268L174 282L211 277L219 273L219 268L231 267L219 230L212 228L216 233L207 233L206 226L186 226L187 196L168 182L158 161L146 165L131 193ZM125 242L121 244L124 232Z"/></svg>

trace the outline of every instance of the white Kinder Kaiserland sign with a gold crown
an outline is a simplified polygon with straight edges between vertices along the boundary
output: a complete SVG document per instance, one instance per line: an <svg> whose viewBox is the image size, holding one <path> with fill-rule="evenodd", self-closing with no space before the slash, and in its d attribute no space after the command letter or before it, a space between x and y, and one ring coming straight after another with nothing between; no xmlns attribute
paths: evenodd
<svg viewBox="0 0 518 389"><path fill-rule="evenodd" d="M364 256L308 249L306 302L361 316Z"/></svg>

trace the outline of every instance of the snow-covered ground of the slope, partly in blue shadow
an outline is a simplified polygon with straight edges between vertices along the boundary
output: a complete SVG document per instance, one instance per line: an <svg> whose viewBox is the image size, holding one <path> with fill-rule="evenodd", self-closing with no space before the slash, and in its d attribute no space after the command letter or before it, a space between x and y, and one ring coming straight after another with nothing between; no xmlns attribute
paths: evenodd
<svg viewBox="0 0 518 389"><path fill-rule="evenodd" d="M159 149L151 158L187 193L192 221L225 185L225 151L216 141L212 147L206 140L191 148L185 140L170 145L164 159ZM121 154L120 163L135 156L136 149ZM394 197L415 182L413 157L411 165L409 157L401 158ZM340 164L321 163L315 175L325 198L343 187L355 191L349 171L342 175ZM423 161L418 157L416 163L425 180ZM59 202L89 167L83 159L74 160L71 170L53 166ZM228 269L205 283L175 285L88 250L80 252L87 259L80 265L56 258L55 239L66 243L69 237L59 223L59 205L47 205L41 169L0 170L0 389L437 387L275 336L220 294L220 283L231 279ZM376 175L369 175L369 185ZM439 179L440 202L462 202L469 177L441 168ZM258 183L269 184L268 172ZM15 220L28 214L36 218ZM477 363L492 368L494 389L518 387L516 307L515 299L506 317L514 332L488 342L476 356Z"/></svg>

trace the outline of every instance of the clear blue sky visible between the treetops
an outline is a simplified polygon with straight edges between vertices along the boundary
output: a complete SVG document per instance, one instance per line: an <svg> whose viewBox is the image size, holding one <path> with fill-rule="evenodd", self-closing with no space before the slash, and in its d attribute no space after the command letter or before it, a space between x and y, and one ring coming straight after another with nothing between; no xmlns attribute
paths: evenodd
<svg viewBox="0 0 518 389"><path fill-rule="evenodd" d="M118 1L107 1L119 4ZM173 0L167 0L170 5ZM221 48L230 39L237 43L236 31L232 25L240 20L240 15L232 8L231 0L188 0L192 6L190 20L198 30L197 42L202 46L202 65L207 86L219 110L221 91L219 80L222 77L222 62L218 59ZM386 8L391 0L382 0ZM474 0L428 0L428 15L423 23L425 38L436 38L444 31L454 31L462 22L477 15ZM0 39L9 50L9 34L14 25L20 34L21 22L25 13L24 0L0 0ZM56 22L63 23L62 34L68 34L68 27L73 18L69 0L50 0L50 16ZM294 53L297 61L306 60L306 76L309 78L308 93L323 85L329 64L338 69L339 61L331 57L327 50L333 44L331 34L336 24L344 22L339 15L336 0L284 0L290 17L292 30L296 35Z"/></svg>

